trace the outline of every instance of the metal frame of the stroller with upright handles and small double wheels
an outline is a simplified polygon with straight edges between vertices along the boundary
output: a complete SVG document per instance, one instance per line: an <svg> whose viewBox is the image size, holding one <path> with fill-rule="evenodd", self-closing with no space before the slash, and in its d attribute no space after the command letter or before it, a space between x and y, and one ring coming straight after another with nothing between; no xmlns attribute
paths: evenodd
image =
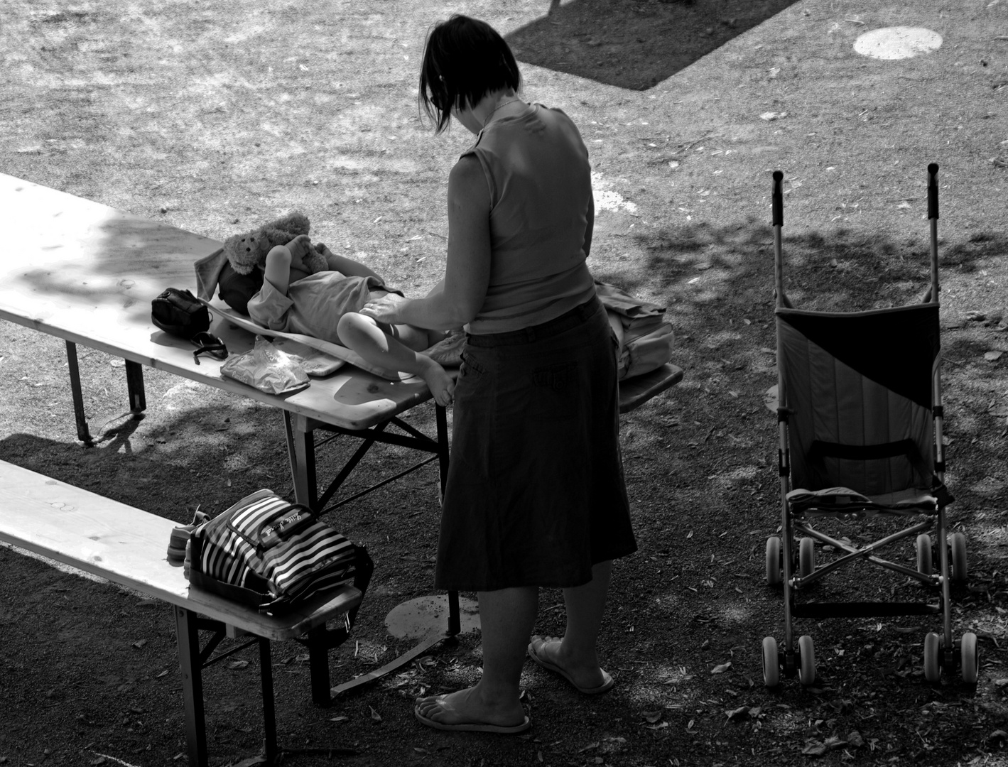
<svg viewBox="0 0 1008 767"><path fill-rule="evenodd" d="M777 319L777 426L778 426L778 475L780 478L780 503L781 503L781 533L780 537L771 536L767 539L766 547L766 577L767 583L771 586L782 586L784 602L784 646L778 651L776 639L768 636L763 640L763 677L766 686L774 687L780 681L780 671L787 676L797 673L802 685L809 685L815 679L815 658L814 646L810 636L803 635L794 639L793 620L794 618L810 618L822 620L829 617L890 617L899 615L933 615L941 614L942 627L941 635L930 632L924 637L924 677L929 682L936 682L940 678L941 669L947 673L953 673L957 664L962 670L963 680L967 683L975 683L978 674L977 658L977 637L968 632L963 635L962 640L956 641L953 636L952 627L952 599L951 586L953 584L964 584L967 578L966 558L966 537L963 533L948 534L946 526L944 507L954 499L944 489L944 455L942 445L942 424L943 409L941 406L941 379L940 379L940 353L939 331L937 327L938 309L938 256L937 256L937 170L938 166L931 163L927 166L927 218L930 225L930 285L920 297L917 304L908 304L897 309L881 309L868 312L812 312L797 311L784 292L783 284L783 257L781 249L781 228L783 226L783 194L781 190L783 173L775 170L773 173L773 232L774 232L774 287L776 297L775 315ZM881 315L886 314L886 317ZM901 313L899 313L901 312ZM861 490L853 488L853 493L849 488L829 487L824 484L824 488L818 492L807 492L793 490L790 487L792 481L791 457L791 436L789 432L789 419L794 413L786 401L789 398L788 389L785 385L785 365L784 365L784 342L782 341L782 317L790 315L795 317L801 314L798 319L803 319L812 327L814 323L850 323L850 322L875 322L883 318L885 322L901 322L896 316L919 315L924 317L928 324L928 330L932 336L928 341L932 345L932 362L930 373L930 400L927 401L928 392L918 392L916 402L920 403L917 408L917 433L925 433L931 440L928 445L931 455L924 461L919 455L923 453L918 450L912 439L904 438L895 442L884 444L862 440L862 443L840 444L842 441L822 441L815 437L811 442L812 450L805 455L801 461L803 473L813 476L808 467L813 467L815 476L823 478L829 483L831 479L831 469L827 467L826 460L833 461L832 468L839 466L852 466L863 462L865 465L865 476L868 476L868 465L870 462L890 461L893 459L903 461L911 466L907 471L909 476L925 479L931 486L929 493L918 495L914 502L902 504L892 503L892 498L886 496L886 502L869 498L867 491L861 495ZM849 327L849 326L845 326ZM864 327L864 326L862 326ZM801 339L805 341L805 339ZM809 344L811 346L811 344ZM919 365L918 360L918 365ZM811 368L811 365L809 365ZM855 371L857 373L857 371ZM809 377L811 380L811 377ZM813 382L814 383L814 382ZM875 383L872 384L876 385ZM926 384L924 384L926 389ZM866 395L867 399L867 395ZM864 405L864 402L862 402ZM912 407L912 405L911 405ZM837 404L838 421L840 421L840 403ZM887 411L888 412L888 411ZM923 413L921 415L920 413ZM861 412L866 415L865 411ZM921 419L929 415L930 422ZM815 430L818 428L814 424L808 425L808 421L814 420L809 414L805 414L806 424L804 429ZM867 420L867 419L866 419ZM890 428L886 426L882 430ZM871 427L864 427L869 430ZM805 435L807 436L807 434ZM920 440L918 440L919 442ZM815 454L818 455L815 455ZM843 462L847 462L844 464ZM886 470L888 471L888 470ZM882 472L883 474L885 472ZM836 476L838 472L833 472ZM844 473L840 472L843 475ZM847 472L849 478L853 473ZM807 479L807 477L802 477ZM887 480L888 482L888 480ZM821 483L822 484L822 483ZM812 488L814 491L815 488ZM878 491L876 491L877 493ZM905 491L904 491L905 492ZM848 541L839 540L836 537L812 527L811 520L816 517L829 517L832 519L852 520L864 519L875 515L903 517L909 526L902 530L891 533L867 545L853 545ZM921 518L923 517L923 518ZM937 564L938 571L932 572L933 548L929 531L933 532L937 538ZM797 538L797 535L802 537ZM907 567L898 562L889 561L882 557L881 549L893 543L915 536L917 562L916 568ZM797 546L795 546L797 541ZM841 555L828 563L816 564L814 541L833 546L842 552ZM806 588L817 581L823 580L828 574L851 564L859 559L867 560L872 564L882 568L893 570L904 574L909 579L919 582L936 596L936 601L926 602L832 602L815 603L809 602L801 604L795 596L803 588ZM795 571L797 570L797 571ZM957 652L958 650L958 652Z"/></svg>

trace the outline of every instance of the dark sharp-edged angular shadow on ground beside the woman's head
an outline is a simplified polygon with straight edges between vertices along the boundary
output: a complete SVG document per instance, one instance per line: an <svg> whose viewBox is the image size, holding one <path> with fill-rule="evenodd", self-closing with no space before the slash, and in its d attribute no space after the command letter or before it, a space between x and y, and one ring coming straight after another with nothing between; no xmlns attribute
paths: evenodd
<svg viewBox="0 0 1008 767"><path fill-rule="evenodd" d="M551 0L507 34L527 63L646 91L795 0Z"/></svg>

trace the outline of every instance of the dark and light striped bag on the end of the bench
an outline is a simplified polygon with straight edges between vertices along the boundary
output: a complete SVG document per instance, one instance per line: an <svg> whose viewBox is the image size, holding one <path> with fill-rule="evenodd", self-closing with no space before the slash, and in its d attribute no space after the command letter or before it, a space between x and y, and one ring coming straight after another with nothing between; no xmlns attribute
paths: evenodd
<svg viewBox="0 0 1008 767"><path fill-rule="evenodd" d="M271 490L199 525L185 558L192 586L264 613L351 583L370 564L363 547Z"/></svg>

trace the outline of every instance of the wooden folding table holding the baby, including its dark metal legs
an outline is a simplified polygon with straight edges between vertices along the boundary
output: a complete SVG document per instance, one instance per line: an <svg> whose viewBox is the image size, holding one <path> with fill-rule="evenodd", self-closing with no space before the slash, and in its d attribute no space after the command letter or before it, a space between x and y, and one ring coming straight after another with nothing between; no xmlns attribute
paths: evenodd
<svg viewBox="0 0 1008 767"><path fill-rule="evenodd" d="M188 342L151 323L151 300L169 286L187 287L195 293L194 262L220 248L220 242L2 173L0 222L8 233L8 255L0 259L0 317L67 342L78 436L86 444L91 443L91 435L84 413L77 344L126 361L130 409L136 417L141 417L146 407L143 366L278 408L284 418L298 503L313 508L325 505L375 442L432 454L407 471L438 460L443 481L447 476L445 408L436 407L436 437L397 417L432 399L421 379L387 381L345 366L331 376L312 379L301 391L266 394L221 377L223 363L206 355L197 364ZM211 332L232 354L247 351L254 344L252 334L220 317L215 318ZM389 430L390 425L399 431ZM321 496L314 461L318 429L362 439L357 453ZM457 604L457 595L454 600ZM455 614L457 617L458 612ZM458 633L457 624L450 623L448 632L432 637L427 647L450 636L453 629ZM321 705L331 699L325 631L325 627L316 630L309 647L311 695Z"/></svg>

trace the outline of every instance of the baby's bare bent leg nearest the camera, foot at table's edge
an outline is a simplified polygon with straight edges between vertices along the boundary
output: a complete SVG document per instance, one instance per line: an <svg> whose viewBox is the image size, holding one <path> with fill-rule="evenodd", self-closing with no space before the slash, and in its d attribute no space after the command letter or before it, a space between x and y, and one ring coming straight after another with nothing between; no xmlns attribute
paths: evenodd
<svg viewBox="0 0 1008 767"><path fill-rule="evenodd" d="M337 334L348 349L372 365L419 376L438 405L451 404L455 390L452 377L429 357L417 354L428 346L426 332L408 325L392 326L390 330L397 338L385 333L371 317L356 311L344 314L337 326Z"/></svg>

